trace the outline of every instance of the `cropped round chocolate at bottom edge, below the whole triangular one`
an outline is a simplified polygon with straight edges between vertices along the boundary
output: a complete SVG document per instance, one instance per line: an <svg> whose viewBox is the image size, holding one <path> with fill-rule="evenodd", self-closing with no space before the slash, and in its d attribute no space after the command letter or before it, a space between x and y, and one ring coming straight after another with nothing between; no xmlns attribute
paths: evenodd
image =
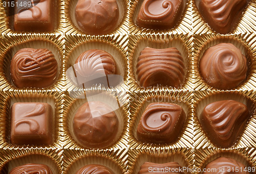
<svg viewBox="0 0 256 174"><path fill-rule="evenodd" d="M204 168L206 171L203 174L249 174L244 164L225 157L209 162Z"/></svg>

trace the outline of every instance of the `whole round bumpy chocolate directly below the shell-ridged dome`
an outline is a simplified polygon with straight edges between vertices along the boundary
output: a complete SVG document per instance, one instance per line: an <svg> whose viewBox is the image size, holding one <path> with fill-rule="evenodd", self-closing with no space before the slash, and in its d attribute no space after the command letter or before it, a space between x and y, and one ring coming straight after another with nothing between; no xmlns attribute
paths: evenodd
<svg viewBox="0 0 256 174"><path fill-rule="evenodd" d="M73 120L74 134L84 146L99 148L114 142L118 118L112 108L99 101L80 106Z"/></svg>

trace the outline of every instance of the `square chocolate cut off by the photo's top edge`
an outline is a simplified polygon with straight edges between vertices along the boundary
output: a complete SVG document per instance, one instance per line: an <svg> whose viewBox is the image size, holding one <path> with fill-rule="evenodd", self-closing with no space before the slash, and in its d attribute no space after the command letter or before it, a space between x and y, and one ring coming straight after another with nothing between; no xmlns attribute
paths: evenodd
<svg viewBox="0 0 256 174"><path fill-rule="evenodd" d="M15 0L14 30L49 32L54 30L54 0L32 0L31 7ZM30 1L31 2L31 1Z"/></svg>

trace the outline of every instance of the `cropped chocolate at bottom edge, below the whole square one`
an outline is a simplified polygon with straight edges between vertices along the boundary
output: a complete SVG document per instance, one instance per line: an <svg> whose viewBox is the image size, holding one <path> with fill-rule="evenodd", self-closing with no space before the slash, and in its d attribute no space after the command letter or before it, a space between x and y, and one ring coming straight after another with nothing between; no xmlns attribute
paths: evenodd
<svg viewBox="0 0 256 174"><path fill-rule="evenodd" d="M52 174L52 170L45 164L24 164L13 168L9 174L24 174L24 173L36 173L36 174Z"/></svg>

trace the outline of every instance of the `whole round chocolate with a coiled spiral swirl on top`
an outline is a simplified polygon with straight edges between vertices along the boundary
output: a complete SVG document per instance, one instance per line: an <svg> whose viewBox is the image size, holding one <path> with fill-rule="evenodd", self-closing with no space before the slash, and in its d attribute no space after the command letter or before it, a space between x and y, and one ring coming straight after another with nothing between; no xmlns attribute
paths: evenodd
<svg viewBox="0 0 256 174"><path fill-rule="evenodd" d="M219 43L204 52L199 69L210 86L233 89L246 79L247 62L239 48L231 43Z"/></svg>

